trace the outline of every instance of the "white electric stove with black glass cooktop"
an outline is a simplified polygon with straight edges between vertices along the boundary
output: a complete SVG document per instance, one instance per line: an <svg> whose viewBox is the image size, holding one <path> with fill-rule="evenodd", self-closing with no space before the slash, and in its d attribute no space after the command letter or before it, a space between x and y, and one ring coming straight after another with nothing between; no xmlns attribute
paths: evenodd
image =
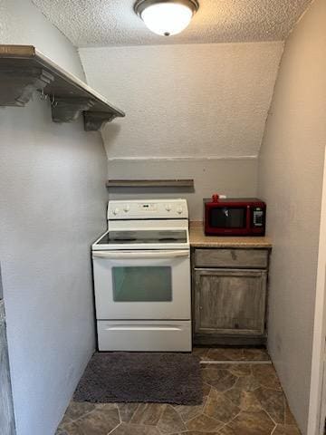
<svg viewBox="0 0 326 435"><path fill-rule="evenodd" d="M186 199L110 201L92 261L100 351L191 351Z"/></svg>

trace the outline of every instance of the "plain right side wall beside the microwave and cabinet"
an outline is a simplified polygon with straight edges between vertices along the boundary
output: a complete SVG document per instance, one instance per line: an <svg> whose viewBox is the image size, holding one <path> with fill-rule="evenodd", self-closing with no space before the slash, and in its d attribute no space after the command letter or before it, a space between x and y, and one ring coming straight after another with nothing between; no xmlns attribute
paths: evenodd
<svg viewBox="0 0 326 435"><path fill-rule="evenodd" d="M285 44L259 165L273 238L269 350L306 433L326 143L326 3L316 0Z"/></svg>

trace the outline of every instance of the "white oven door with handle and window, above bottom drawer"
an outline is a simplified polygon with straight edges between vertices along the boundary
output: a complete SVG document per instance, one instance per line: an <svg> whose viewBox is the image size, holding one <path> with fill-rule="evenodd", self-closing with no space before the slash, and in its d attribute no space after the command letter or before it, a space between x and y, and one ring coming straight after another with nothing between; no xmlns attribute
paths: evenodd
<svg viewBox="0 0 326 435"><path fill-rule="evenodd" d="M189 320L189 250L93 251L98 320Z"/></svg>

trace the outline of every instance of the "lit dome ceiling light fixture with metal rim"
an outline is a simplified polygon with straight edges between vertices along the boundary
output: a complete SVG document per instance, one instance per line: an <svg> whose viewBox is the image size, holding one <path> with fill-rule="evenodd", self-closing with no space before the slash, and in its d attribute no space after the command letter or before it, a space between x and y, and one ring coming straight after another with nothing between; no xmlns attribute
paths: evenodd
<svg viewBox="0 0 326 435"><path fill-rule="evenodd" d="M179 34L198 10L197 0L138 0L134 9L155 34Z"/></svg>

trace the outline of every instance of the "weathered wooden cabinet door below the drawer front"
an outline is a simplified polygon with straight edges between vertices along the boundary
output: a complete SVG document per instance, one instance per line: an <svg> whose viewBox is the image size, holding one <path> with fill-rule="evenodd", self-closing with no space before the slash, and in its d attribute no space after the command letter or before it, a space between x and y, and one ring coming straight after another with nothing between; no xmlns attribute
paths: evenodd
<svg viewBox="0 0 326 435"><path fill-rule="evenodd" d="M266 272L195 269L195 333L264 334Z"/></svg>

